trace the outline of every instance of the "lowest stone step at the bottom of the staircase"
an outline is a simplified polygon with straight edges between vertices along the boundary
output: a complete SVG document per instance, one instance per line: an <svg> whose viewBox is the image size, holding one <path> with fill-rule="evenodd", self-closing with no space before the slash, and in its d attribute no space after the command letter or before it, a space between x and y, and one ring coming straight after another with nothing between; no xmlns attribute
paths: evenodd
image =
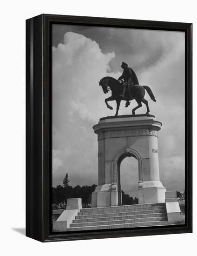
<svg viewBox="0 0 197 256"><path fill-rule="evenodd" d="M151 221L151 222L135 222L135 223L124 223L114 225L100 225L100 226L85 226L69 228L67 231L80 231L80 230L94 230L94 229L125 229L125 228L136 228L146 226L162 226L168 225L167 221Z"/></svg>

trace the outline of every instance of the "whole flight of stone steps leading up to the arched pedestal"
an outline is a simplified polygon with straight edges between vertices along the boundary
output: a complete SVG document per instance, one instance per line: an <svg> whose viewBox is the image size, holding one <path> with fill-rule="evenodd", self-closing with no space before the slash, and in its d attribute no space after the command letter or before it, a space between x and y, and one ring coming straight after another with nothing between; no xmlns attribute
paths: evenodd
<svg viewBox="0 0 197 256"><path fill-rule="evenodd" d="M67 231L168 225L164 203L81 209Z"/></svg>

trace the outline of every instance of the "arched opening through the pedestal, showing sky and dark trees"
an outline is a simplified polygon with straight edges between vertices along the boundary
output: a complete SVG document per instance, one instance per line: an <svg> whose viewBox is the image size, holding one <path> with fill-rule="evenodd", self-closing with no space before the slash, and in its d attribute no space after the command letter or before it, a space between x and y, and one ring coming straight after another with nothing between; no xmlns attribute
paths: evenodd
<svg viewBox="0 0 197 256"><path fill-rule="evenodd" d="M118 159L118 205L138 204L138 160L125 154Z"/></svg>

